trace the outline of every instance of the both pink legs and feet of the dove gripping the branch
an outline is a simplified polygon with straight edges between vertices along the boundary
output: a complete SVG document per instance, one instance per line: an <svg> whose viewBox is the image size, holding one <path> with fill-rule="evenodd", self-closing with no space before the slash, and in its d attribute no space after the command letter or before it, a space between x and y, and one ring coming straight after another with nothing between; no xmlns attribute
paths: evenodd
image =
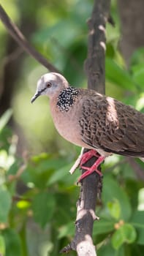
<svg viewBox="0 0 144 256"><path fill-rule="evenodd" d="M92 151L92 152L91 152ZM86 176L90 175L91 173L94 173L94 171L96 171L96 173L99 174L99 176L102 177L102 173L97 170L97 167L99 167L99 165L105 160L105 157L102 157L102 156L99 156L96 151L94 150L91 150L91 151L88 151L89 154L85 155L84 156L84 160L83 160L83 157L82 157L82 160L80 162L80 167L82 167L84 170L87 170L85 173L82 174L82 176L80 176L80 178L78 179L78 182L80 182L83 178L86 178ZM92 165L91 167L86 167L86 166L82 166L82 163L86 163L88 161L88 159L91 159L91 157L99 157L98 159L96 159L96 162L94 163L94 165Z"/></svg>

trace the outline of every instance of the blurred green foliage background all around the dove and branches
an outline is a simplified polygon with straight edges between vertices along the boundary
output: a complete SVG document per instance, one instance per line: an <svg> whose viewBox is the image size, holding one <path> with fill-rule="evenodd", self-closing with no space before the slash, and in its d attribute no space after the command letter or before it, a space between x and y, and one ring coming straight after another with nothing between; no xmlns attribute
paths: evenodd
<svg viewBox="0 0 144 256"><path fill-rule="evenodd" d="M86 20L91 15L91 1L1 0L1 4L18 24L22 12L31 20L35 18L37 31L31 34L31 42L73 86L86 87L83 62L87 54ZM115 1L112 15L116 26L113 29L107 25L106 94L144 112L144 49L133 54L126 69L118 52L120 31ZM2 59L8 37L1 24L0 35ZM75 203L79 192L75 184L80 173L70 176L68 170L80 148L59 137L53 128L47 99L30 105L37 79L44 72L45 68L31 57L24 57L12 96L12 110L0 118L2 256L56 256L75 233ZM22 157L17 154L20 138L7 125L11 115L23 131L21 138L26 140L26 144L23 140L26 151ZM138 159L137 165L144 169ZM143 255L143 181L137 179L134 168L123 157L106 159L102 171L102 202L96 208L100 221L94 223L98 256Z"/></svg>

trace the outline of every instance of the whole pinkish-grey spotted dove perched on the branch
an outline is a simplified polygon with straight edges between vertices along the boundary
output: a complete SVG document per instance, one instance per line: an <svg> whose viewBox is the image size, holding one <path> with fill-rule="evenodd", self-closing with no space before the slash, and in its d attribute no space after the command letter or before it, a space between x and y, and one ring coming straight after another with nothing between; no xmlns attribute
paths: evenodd
<svg viewBox="0 0 144 256"><path fill-rule="evenodd" d="M79 181L94 171L102 176L98 167L111 154L139 157L144 162L144 114L140 111L94 90L72 87L56 72L42 75L31 102L41 95L50 99L50 113L59 134L90 149L80 154L78 164L86 172ZM83 166L94 156L94 165Z"/></svg>

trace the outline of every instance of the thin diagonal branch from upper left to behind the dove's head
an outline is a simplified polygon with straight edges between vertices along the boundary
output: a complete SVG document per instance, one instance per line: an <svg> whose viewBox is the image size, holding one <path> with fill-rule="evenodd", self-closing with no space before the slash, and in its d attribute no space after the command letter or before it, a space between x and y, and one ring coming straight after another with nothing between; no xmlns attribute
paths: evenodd
<svg viewBox="0 0 144 256"><path fill-rule="evenodd" d="M26 50L26 53L33 56L34 59L39 61L44 67L49 69L51 72L58 72L59 70L51 64L48 59L45 59L42 54L40 54L37 50L34 49L32 45L26 40L18 27L12 23L7 13L4 11L4 8L0 4L0 19L4 26L7 28L7 31L11 34L11 36L15 39L18 44Z"/></svg>

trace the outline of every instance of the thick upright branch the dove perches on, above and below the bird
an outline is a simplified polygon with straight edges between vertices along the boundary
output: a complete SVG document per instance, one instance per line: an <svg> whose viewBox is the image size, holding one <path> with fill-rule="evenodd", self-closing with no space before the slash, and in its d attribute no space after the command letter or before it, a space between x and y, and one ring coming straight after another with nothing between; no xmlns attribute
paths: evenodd
<svg viewBox="0 0 144 256"><path fill-rule="evenodd" d="M110 13L110 0L95 0L91 18L88 20L88 58L85 69L88 76L88 89L95 89L105 94L105 26ZM85 148L84 152L87 151ZM86 166L91 167L96 157L90 159ZM84 172L85 170L82 170ZM77 218L75 222L75 237L71 244L61 252L77 251L79 256L96 256L92 241L93 225L96 219L96 198L102 191L102 178L92 173L83 179L80 188L80 198L77 202Z"/></svg>

